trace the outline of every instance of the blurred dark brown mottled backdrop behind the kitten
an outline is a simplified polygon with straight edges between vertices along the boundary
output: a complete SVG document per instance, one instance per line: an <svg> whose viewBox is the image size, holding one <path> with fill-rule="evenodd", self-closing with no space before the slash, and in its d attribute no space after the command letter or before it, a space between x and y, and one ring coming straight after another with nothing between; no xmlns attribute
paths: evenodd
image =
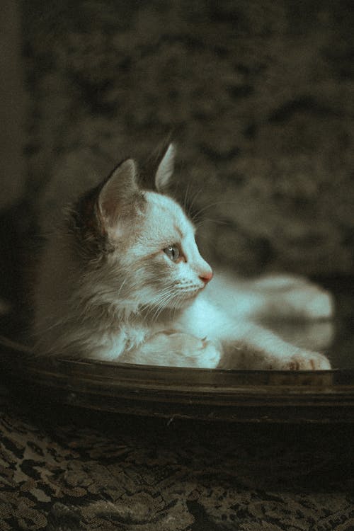
<svg viewBox="0 0 354 531"><path fill-rule="evenodd" d="M213 265L353 288L352 2L2 5L4 299L28 307L48 183L144 165L167 138Z"/></svg>

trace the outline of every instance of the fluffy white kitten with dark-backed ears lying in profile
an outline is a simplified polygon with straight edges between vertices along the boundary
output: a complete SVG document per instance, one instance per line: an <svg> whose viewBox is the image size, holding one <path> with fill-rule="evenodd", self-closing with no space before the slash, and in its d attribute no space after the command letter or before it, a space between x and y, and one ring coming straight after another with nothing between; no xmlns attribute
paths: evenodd
<svg viewBox="0 0 354 531"><path fill-rule="evenodd" d="M35 295L40 355L241 369L329 369L324 355L299 349L256 324L272 316L331 316L331 297L287 277L212 282L195 228L164 191L170 145L154 176L138 184L128 159L76 200L47 241ZM210 282L210 285L209 285Z"/></svg>

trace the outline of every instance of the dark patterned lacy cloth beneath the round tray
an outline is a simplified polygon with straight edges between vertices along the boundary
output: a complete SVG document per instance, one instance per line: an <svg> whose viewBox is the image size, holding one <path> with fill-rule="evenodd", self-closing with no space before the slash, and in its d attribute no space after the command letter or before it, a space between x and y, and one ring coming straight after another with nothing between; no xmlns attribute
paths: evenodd
<svg viewBox="0 0 354 531"><path fill-rule="evenodd" d="M352 531L353 434L34 411L4 392L0 530Z"/></svg>

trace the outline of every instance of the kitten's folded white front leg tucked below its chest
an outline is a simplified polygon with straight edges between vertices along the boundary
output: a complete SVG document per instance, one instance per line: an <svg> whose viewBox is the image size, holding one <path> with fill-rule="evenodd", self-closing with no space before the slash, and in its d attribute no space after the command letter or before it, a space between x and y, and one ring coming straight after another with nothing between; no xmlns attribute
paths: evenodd
<svg viewBox="0 0 354 531"><path fill-rule="evenodd" d="M219 364L221 350L216 343L189 333L161 331L154 333L139 348L120 356L120 362L169 367L213 369Z"/></svg>

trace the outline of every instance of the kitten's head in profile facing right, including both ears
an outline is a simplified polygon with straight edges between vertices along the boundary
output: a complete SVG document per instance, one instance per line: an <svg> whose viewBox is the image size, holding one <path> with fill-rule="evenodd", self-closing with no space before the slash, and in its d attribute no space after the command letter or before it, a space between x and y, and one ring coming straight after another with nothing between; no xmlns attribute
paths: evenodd
<svg viewBox="0 0 354 531"><path fill-rule="evenodd" d="M182 307L212 278L192 222L164 194L174 156L170 144L154 175L155 191L139 186L135 161L127 159L72 213L77 256L99 279L98 287L91 280L92 289L113 304Z"/></svg>

